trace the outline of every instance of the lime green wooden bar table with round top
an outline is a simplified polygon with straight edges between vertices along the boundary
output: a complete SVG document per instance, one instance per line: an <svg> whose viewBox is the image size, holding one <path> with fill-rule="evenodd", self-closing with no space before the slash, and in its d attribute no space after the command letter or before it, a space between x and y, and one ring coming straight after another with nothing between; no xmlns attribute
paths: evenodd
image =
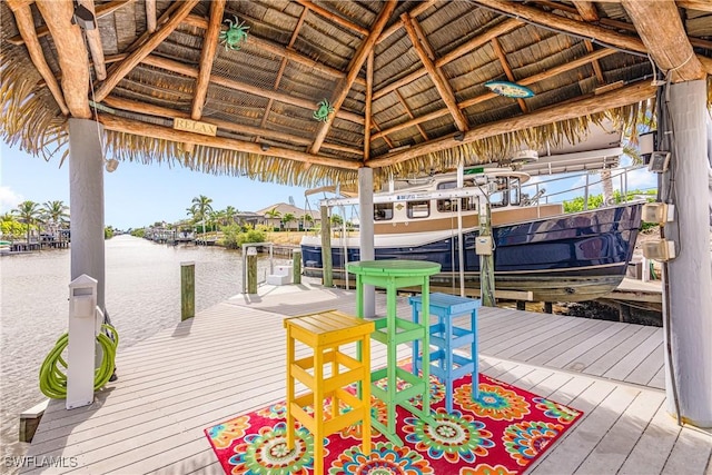
<svg viewBox="0 0 712 475"><path fill-rule="evenodd" d="M422 419L431 418L431 387L429 368L423 365L423 374L414 375L398 367L397 346L416 339L423 340L423 358L429 360L429 318L422 318L414 323L398 318L397 289L403 287L421 287L423 307L429 308L431 276L441 271L441 265L426 260L362 260L347 264L347 270L356 275L356 315L364 318L364 285L373 285L386 289L386 318L375 320L376 330L372 338L387 347L387 365L370 374L370 380L387 378L386 389L372 384L372 394L378 397L387 407L386 425L373 419L373 426L392 443L403 446L403 441L396 435L396 406L402 406ZM397 380L403 379L411 386L397 390ZM422 396L422 408L411 404L411 399Z"/></svg>

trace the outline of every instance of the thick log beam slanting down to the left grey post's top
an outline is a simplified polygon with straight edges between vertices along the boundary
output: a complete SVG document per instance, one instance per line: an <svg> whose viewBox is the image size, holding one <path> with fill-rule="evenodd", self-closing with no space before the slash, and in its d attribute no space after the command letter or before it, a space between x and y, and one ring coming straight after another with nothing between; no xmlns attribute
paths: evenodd
<svg viewBox="0 0 712 475"><path fill-rule="evenodd" d="M69 113L77 119L89 119L89 59L81 28L71 23L75 3L71 0L38 0L34 4L57 49L62 70L62 92Z"/></svg>

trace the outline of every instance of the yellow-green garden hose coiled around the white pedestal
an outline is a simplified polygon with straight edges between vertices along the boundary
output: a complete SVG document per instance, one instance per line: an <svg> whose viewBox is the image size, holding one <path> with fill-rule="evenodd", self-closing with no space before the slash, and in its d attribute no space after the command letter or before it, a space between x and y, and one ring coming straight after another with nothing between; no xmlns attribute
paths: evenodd
<svg viewBox="0 0 712 475"><path fill-rule="evenodd" d="M101 359L101 365L95 370L93 390L107 384L113 374L116 348L119 345L119 334L116 328L103 324L101 329L109 331L111 337L103 331L97 335L97 342L99 342L103 350L103 358ZM47 355L40 368L40 390L44 396L52 399L67 397L67 362L62 358L62 352L67 348L67 345L69 345L69 334L59 337L55 348Z"/></svg>

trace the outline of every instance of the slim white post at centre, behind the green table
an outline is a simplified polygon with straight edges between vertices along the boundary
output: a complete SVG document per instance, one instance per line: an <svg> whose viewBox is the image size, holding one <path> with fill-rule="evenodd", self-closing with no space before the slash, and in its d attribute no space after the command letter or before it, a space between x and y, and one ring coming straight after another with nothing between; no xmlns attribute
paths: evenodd
<svg viewBox="0 0 712 475"><path fill-rule="evenodd" d="M374 170L362 167L358 169L358 239L360 245L360 260L374 260ZM364 316L376 315L376 288L364 286Z"/></svg>

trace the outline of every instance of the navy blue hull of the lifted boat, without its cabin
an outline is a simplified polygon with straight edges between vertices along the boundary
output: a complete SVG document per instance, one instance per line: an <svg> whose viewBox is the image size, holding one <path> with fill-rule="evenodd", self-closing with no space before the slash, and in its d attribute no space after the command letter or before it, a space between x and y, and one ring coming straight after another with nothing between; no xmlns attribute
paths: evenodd
<svg viewBox="0 0 712 475"><path fill-rule="evenodd" d="M633 256L641 225L642 204L596 209L493 227L495 288L532 291L538 301L583 301L602 297L623 280ZM375 236L376 259L415 259L438 263L442 273L433 286L459 288L459 250L456 230L449 237L419 241L408 237L407 246ZM466 287L479 287L479 256L475 254L477 230L463 232ZM432 236L431 236L432 237ZM305 274L322 275L322 247L301 244ZM358 246L332 248L334 276L344 278L344 256L359 260ZM350 277L353 278L353 277Z"/></svg>

